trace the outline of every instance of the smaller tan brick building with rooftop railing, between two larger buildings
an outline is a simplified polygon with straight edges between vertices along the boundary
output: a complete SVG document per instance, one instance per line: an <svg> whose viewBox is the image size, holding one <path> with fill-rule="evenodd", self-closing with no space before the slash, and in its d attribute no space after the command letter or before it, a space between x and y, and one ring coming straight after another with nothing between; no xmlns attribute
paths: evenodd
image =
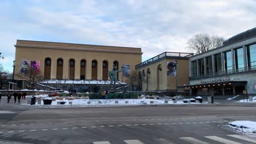
<svg viewBox="0 0 256 144"><path fill-rule="evenodd" d="M188 85L191 56L193 53L164 52L137 64L135 68L142 74L142 90L175 92L177 86ZM184 88L178 91L184 92Z"/></svg>

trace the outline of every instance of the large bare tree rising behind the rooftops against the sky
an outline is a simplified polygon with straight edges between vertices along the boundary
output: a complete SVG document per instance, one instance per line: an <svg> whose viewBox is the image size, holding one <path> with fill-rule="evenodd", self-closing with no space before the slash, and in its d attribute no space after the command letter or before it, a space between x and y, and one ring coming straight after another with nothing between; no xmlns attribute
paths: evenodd
<svg viewBox="0 0 256 144"><path fill-rule="evenodd" d="M222 46L223 41L224 38L218 37L217 35L210 36L200 33L193 35L193 37L188 40L188 49L196 53L203 53Z"/></svg>

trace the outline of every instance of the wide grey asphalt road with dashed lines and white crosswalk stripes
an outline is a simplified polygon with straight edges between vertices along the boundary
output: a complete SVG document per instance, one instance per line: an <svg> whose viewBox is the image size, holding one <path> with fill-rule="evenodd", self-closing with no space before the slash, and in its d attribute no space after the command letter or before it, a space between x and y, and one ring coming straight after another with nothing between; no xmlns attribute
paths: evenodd
<svg viewBox="0 0 256 144"><path fill-rule="evenodd" d="M250 137L251 142L242 140L245 136L225 126L236 120L256 121L255 104L61 109L0 104L0 111L5 111L0 113L0 142L256 143L256 137Z"/></svg>

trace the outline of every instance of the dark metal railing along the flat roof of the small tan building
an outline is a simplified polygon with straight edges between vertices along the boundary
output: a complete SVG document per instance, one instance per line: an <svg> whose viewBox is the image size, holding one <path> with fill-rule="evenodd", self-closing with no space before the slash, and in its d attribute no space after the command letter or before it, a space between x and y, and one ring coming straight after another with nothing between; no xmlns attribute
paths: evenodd
<svg viewBox="0 0 256 144"><path fill-rule="evenodd" d="M139 64L135 65L135 69L138 69L138 68L140 68L144 65L150 64L152 62L158 61L159 59L164 58L164 57L185 57L185 58L189 58L193 55L194 55L194 53L164 52L164 53L161 53L158 56L155 56L153 58L148 59L147 61L144 61L142 63L139 63Z"/></svg>

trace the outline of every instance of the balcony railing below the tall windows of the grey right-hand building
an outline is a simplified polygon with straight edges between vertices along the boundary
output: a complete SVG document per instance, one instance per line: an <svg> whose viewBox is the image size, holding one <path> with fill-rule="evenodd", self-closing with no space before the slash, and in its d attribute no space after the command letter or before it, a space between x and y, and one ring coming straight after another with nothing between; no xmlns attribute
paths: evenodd
<svg viewBox="0 0 256 144"><path fill-rule="evenodd" d="M205 78L213 77L213 76L222 76L222 75L229 75L229 74L236 74L236 73L245 73L247 71L252 71L252 70L256 70L256 65L253 65L251 67L246 67L246 68L218 71L215 73L204 74L204 75L194 75L194 76L189 77L189 80L205 79Z"/></svg>

